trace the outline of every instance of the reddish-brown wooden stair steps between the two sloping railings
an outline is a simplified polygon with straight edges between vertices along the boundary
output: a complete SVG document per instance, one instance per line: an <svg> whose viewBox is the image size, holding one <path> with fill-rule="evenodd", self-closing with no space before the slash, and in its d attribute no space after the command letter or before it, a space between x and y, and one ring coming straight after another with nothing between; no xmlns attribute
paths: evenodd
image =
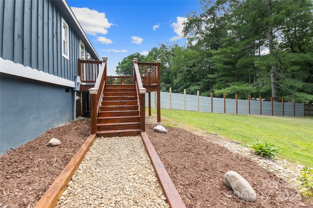
<svg viewBox="0 0 313 208"><path fill-rule="evenodd" d="M134 84L105 85L97 118L98 136L136 136L140 132L138 97Z"/></svg>

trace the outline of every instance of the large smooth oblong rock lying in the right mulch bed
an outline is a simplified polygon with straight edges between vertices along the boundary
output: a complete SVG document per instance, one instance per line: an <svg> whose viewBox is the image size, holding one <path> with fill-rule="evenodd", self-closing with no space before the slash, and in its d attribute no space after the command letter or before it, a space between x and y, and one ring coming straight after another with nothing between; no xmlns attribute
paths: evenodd
<svg viewBox="0 0 313 208"><path fill-rule="evenodd" d="M256 200L256 193L250 184L239 173L228 171L224 175L224 184L233 189L234 194L248 202Z"/></svg>

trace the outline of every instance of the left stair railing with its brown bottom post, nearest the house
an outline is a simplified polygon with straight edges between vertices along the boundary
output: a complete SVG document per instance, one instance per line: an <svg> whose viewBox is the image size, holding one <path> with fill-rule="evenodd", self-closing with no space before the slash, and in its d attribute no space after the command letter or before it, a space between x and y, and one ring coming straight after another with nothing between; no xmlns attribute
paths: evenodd
<svg viewBox="0 0 313 208"><path fill-rule="evenodd" d="M89 89L91 134L97 132L98 111L102 101L103 89L107 81L107 58L102 57L102 59L103 61L94 87Z"/></svg>

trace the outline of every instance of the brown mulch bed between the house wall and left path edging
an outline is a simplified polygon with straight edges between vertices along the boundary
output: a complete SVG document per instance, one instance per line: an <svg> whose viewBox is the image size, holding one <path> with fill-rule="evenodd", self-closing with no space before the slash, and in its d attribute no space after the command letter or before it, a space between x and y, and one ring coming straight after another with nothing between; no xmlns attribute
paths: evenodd
<svg viewBox="0 0 313 208"><path fill-rule="evenodd" d="M90 120L77 120L0 156L0 208L32 208L90 134ZM59 146L46 146L52 138Z"/></svg>

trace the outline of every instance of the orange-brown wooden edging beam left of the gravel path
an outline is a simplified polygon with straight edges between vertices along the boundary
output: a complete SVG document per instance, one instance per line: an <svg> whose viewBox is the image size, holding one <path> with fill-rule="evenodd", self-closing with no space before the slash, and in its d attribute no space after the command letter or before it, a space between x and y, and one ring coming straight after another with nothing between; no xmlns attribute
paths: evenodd
<svg viewBox="0 0 313 208"><path fill-rule="evenodd" d="M68 162L67 166L61 171L51 186L45 191L45 194L38 201L35 208L55 208L62 193L67 188L67 183L71 180L74 172L81 164L89 147L96 139L96 134L90 134L85 143L78 149L76 154Z"/></svg>

